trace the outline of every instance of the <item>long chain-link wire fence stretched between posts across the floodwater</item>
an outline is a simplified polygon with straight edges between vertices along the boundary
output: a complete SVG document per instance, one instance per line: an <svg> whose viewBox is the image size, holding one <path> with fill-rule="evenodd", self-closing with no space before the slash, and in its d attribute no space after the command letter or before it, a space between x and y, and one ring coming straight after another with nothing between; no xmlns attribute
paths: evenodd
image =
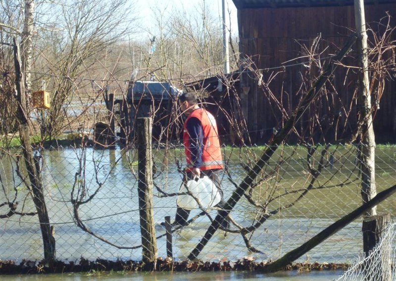
<svg viewBox="0 0 396 281"><path fill-rule="evenodd" d="M262 147L222 147L224 199L247 175ZM362 204L356 145L282 146L230 212L230 227L218 230L199 253L202 261L249 257L275 260ZM325 152L324 152L325 151ZM157 256L166 257L165 216L174 217L183 182L182 145L155 145L153 221ZM0 259L42 260L43 241L35 204L25 186L18 149L3 150L0 181ZM135 149L93 147L41 151L42 181L56 259L142 260L138 156ZM376 148L376 186L395 184L396 149ZM396 215L393 197L378 212ZM187 226L173 229L173 257L185 260L202 239L216 207L191 211ZM351 263L362 253L361 221L356 220L298 261Z"/></svg>

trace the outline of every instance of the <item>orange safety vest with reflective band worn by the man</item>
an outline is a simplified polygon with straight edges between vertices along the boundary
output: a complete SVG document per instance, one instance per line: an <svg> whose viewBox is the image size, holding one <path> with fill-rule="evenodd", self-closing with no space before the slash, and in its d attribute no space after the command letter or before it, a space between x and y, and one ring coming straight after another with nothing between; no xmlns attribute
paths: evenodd
<svg viewBox="0 0 396 281"><path fill-rule="evenodd" d="M190 118L198 118L201 122L203 131L203 149L202 149L202 165L200 170L223 169L223 158L221 156L221 148L219 134L217 132L216 120L213 115L203 108L197 108L189 114L184 123L183 144L186 153L187 171L191 171L193 165L191 163L190 136L187 131L187 122Z"/></svg>

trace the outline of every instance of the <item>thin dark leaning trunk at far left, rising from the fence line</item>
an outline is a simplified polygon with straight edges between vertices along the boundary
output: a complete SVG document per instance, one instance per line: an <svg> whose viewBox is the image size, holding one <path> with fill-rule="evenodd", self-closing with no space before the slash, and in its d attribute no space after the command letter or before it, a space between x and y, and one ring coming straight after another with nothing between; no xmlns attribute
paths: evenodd
<svg viewBox="0 0 396 281"><path fill-rule="evenodd" d="M23 158L28 172L30 186L27 186L31 192L35 204L40 229L44 244L44 259L47 262L55 261L55 239L52 235L53 229L49 225L49 217L44 196L43 181L39 164L40 156L33 156L32 146L29 139L29 125L26 110L26 96L23 85L23 74L21 73L19 47L14 38L14 63L15 63L15 85L18 95L18 118L20 121L20 138L22 142Z"/></svg>

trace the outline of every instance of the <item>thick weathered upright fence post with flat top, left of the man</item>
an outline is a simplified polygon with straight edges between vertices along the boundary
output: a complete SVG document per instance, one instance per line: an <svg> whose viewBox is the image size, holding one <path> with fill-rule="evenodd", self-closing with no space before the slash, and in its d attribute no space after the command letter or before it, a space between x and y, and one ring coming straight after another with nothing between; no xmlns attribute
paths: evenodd
<svg viewBox="0 0 396 281"><path fill-rule="evenodd" d="M138 118L136 133L138 137L138 195L140 213L140 232L142 234L142 255L146 265L157 258L152 204L152 156L151 156L151 119Z"/></svg>

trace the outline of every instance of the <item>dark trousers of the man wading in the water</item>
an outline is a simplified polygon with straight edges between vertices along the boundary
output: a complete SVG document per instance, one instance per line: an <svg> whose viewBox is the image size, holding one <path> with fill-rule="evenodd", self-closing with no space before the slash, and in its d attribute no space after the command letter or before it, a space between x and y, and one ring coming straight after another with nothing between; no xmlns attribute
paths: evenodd
<svg viewBox="0 0 396 281"><path fill-rule="evenodd" d="M225 201L223 198L223 190L221 189L221 181L220 181L220 171L221 170L206 170L206 171L201 171L201 177L203 176L207 176L209 179L212 180L212 182L214 183L214 185L218 188L219 193L220 193L220 202L216 205L216 207L222 208L225 205ZM194 174L187 172L185 174L185 177L183 179L183 183L187 183L189 180L194 179ZM187 209L183 209L179 206L177 206L176 209L176 216L175 216L175 221L173 222L173 224L177 224L177 225L185 225L188 221L190 215L190 210ZM228 220L225 219L223 221L223 223L221 224L224 228L228 228Z"/></svg>

